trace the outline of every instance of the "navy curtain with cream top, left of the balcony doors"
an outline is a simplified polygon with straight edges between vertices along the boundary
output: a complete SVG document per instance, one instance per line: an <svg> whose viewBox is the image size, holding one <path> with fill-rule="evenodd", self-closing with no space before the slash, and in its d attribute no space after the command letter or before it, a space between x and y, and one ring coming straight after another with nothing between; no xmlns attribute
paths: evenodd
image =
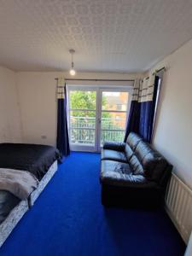
<svg viewBox="0 0 192 256"><path fill-rule="evenodd" d="M70 154L68 127L67 127L67 97L66 84L63 79L58 79L57 84L57 137L56 146L62 156Z"/></svg>

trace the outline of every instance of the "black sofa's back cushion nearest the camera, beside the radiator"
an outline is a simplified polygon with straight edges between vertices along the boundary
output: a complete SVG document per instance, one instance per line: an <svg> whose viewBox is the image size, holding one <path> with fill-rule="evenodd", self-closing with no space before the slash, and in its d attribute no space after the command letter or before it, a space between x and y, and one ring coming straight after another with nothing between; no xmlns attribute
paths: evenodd
<svg viewBox="0 0 192 256"><path fill-rule="evenodd" d="M166 166L168 164L166 159L148 143L143 141L137 144L135 154L143 166L145 176L155 182L160 182L160 178L166 171Z"/></svg>

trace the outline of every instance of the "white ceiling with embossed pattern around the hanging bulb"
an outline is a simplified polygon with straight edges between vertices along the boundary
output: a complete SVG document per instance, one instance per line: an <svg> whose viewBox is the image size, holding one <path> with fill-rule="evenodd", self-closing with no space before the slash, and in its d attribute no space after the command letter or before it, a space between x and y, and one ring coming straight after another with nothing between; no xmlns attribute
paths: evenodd
<svg viewBox="0 0 192 256"><path fill-rule="evenodd" d="M192 0L0 0L0 65L141 72L192 38Z"/></svg>

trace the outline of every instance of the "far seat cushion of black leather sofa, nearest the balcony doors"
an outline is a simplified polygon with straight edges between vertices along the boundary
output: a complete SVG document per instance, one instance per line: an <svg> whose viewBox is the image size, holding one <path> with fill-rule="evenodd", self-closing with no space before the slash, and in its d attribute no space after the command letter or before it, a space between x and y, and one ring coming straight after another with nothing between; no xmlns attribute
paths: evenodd
<svg viewBox="0 0 192 256"><path fill-rule="evenodd" d="M119 162L127 162L124 152L111 150L111 149L102 149L102 160L115 160Z"/></svg>

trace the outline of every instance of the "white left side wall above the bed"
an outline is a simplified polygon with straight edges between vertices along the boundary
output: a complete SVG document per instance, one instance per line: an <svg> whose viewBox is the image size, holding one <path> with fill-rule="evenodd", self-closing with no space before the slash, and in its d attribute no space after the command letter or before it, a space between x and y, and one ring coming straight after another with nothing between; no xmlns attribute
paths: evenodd
<svg viewBox="0 0 192 256"><path fill-rule="evenodd" d="M0 67L0 143L21 141L15 72Z"/></svg>

